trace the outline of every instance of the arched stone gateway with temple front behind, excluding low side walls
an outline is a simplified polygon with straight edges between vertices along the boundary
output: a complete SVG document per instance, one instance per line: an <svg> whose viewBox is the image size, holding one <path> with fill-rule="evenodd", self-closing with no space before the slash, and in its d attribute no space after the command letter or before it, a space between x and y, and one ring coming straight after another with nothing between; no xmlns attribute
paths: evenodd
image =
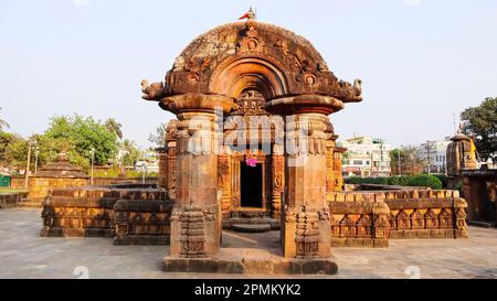
<svg viewBox="0 0 497 301"><path fill-rule="evenodd" d="M281 221L285 257L329 257L340 189L329 115L361 101L304 37L248 19L197 37L144 98L177 116L162 154L171 256L219 251L222 219ZM272 222L269 222L272 223Z"/></svg>

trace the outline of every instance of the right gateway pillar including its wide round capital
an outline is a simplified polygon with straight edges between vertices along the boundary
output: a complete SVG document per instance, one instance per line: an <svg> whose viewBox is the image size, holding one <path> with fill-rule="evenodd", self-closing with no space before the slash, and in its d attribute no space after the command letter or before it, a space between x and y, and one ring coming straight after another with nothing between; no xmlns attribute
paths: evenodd
<svg viewBox="0 0 497 301"><path fill-rule="evenodd" d="M342 106L335 98L318 95L281 98L266 105L272 112L286 116L285 207L282 217L285 257L331 255L326 202L326 129L327 116Z"/></svg>

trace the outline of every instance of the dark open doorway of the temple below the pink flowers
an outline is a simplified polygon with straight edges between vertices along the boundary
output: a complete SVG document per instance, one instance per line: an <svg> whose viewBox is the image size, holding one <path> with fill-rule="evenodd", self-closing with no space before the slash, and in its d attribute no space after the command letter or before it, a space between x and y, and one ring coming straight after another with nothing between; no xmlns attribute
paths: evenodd
<svg viewBox="0 0 497 301"><path fill-rule="evenodd" d="M246 162L241 163L240 186L242 207L263 207L263 164L248 165Z"/></svg>

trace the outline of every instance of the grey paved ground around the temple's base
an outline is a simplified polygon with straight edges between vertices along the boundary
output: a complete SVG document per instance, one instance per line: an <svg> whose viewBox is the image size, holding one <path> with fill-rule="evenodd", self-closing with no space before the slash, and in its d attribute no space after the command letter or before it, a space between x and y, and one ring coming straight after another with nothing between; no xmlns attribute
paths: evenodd
<svg viewBox="0 0 497 301"><path fill-rule="evenodd" d="M89 278L282 278L165 273L160 267L167 246L113 246L109 238L40 238L40 227L39 209L0 211L0 278L78 278L85 272ZM278 235L225 233L223 244L260 252L262 247L276 246ZM390 240L389 249L334 248L339 271L327 278L497 278L497 229L470 227L469 235L459 240Z"/></svg>

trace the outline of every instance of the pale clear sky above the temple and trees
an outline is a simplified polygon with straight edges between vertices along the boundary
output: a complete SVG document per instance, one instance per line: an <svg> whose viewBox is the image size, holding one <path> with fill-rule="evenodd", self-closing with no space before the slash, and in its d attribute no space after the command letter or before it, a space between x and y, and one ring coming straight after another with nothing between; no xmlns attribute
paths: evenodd
<svg viewBox="0 0 497 301"><path fill-rule="evenodd" d="M453 114L497 96L497 1L1 0L0 117L22 136L53 115L114 117L147 146L172 116L141 100L197 35L260 21L308 39L364 100L331 116L341 138L413 144L453 133Z"/></svg>

